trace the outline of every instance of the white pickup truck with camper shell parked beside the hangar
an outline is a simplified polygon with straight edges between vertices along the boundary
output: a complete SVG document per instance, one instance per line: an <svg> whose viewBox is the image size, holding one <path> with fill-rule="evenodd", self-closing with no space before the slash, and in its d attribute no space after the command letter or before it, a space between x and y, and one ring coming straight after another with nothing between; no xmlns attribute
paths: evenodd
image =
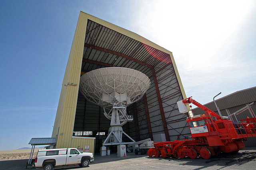
<svg viewBox="0 0 256 170"><path fill-rule="evenodd" d="M53 167L58 166L74 166L74 164L87 167L92 161L94 161L92 153L80 153L75 148L43 149L38 150L34 166L44 167L44 170L52 170Z"/></svg>

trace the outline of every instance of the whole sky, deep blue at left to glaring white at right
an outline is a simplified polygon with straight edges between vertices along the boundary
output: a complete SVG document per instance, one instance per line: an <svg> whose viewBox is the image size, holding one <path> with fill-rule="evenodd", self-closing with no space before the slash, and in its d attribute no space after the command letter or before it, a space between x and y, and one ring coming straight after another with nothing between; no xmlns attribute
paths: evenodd
<svg viewBox="0 0 256 170"><path fill-rule="evenodd" d="M172 51L202 104L256 86L255 0L0 0L0 150L51 137L80 11Z"/></svg>

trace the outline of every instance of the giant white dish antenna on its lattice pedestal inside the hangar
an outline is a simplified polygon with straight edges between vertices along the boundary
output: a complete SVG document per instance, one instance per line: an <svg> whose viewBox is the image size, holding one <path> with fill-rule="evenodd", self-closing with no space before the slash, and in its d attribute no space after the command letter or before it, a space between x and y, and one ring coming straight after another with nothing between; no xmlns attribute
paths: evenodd
<svg viewBox="0 0 256 170"><path fill-rule="evenodd" d="M103 146L135 142L122 129L125 123L133 120L133 116L126 113L126 107L140 100L149 86L148 76L131 68L99 68L80 77L80 92L90 102L103 107L104 115L110 120ZM122 142L122 134L132 142Z"/></svg>

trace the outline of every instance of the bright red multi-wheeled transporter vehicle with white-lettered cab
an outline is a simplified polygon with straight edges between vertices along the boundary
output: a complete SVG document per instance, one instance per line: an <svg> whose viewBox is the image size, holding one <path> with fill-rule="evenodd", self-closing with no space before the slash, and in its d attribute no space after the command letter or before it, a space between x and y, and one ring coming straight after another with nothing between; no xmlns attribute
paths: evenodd
<svg viewBox="0 0 256 170"><path fill-rule="evenodd" d="M186 104L194 104L205 111L204 115L187 118L192 139L153 143L154 148L148 150L148 156L188 156L192 159L199 156L209 159L221 152L238 152L245 147L242 141L247 141L247 137L256 137L256 118L253 112L253 118L232 122L228 117L221 117L191 97L177 103L181 113L188 112ZM249 109L252 111L250 107Z"/></svg>

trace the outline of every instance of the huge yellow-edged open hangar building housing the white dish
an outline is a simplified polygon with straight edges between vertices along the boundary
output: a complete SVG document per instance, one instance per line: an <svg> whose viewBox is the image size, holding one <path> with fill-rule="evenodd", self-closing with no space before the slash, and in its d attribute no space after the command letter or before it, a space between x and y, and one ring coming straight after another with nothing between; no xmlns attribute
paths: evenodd
<svg viewBox="0 0 256 170"><path fill-rule="evenodd" d="M52 132L56 148L89 146L90 152L98 152L110 120L100 106L86 101L79 92L80 76L114 66L138 70L151 81L142 99L127 107L134 120L123 129L132 139L190 137L188 115L181 114L176 104L186 95L172 53L136 33L80 12Z"/></svg>

